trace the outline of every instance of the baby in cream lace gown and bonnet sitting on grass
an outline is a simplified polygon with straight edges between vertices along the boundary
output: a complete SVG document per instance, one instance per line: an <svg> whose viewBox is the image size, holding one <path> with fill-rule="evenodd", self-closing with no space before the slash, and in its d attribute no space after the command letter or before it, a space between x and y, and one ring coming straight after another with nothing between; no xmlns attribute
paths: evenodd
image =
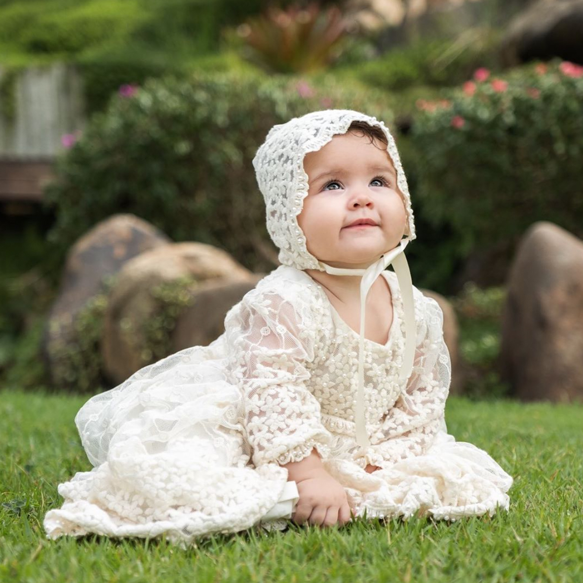
<svg viewBox="0 0 583 583"><path fill-rule="evenodd" d="M316 111L273 127L253 163L282 265L209 346L80 409L95 467L59 486L48 536L188 543L286 519L508 510L512 478L447 433L442 312L410 280L415 225L388 128Z"/></svg>

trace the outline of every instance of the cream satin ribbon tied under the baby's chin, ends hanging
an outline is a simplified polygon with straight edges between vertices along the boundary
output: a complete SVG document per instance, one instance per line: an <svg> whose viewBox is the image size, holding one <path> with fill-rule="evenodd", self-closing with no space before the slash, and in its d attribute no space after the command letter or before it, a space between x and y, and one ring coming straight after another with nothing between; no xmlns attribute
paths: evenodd
<svg viewBox="0 0 583 583"><path fill-rule="evenodd" d="M401 297L403 298L403 312L405 319L405 352L403 353L403 362L399 371L399 380L405 382L413 370L413 359L415 358L415 305L413 304L413 285L411 282L411 273L409 264L405 258L405 247L409 241L402 239L399 244L381 255L373 265L366 269L343 269L336 268L320 262L326 273L331 275L361 275L360 280L360 339L359 339L359 386L356 395L356 409L354 410L354 419L356 422L356 442L362 449L370 446L368 433L366 429L366 417L364 415L364 319L366 317L366 298L371 286L384 269L393 265Z"/></svg>

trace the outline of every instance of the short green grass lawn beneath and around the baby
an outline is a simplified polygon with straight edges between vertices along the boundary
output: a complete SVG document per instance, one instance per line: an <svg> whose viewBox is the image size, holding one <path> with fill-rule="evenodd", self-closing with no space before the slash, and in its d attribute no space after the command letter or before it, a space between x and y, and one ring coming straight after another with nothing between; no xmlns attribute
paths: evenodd
<svg viewBox="0 0 583 583"><path fill-rule="evenodd" d="M448 431L515 479L510 512L445 524L290 523L201 539L45 539L57 484L90 469L73 417L86 398L0 392L0 581L583 581L583 406L448 401Z"/></svg>

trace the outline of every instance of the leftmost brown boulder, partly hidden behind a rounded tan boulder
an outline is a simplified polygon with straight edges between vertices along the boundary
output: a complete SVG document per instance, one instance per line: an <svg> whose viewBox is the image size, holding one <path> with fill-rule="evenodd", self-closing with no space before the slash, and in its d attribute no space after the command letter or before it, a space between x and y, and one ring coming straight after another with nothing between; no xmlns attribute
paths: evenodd
<svg viewBox="0 0 583 583"><path fill-rule="evenodd" d="M77 377L70 370L67 354L78 352L76 322L83 308L103 289L104 280L129 259L169 241L134 215L114 215L76 241L69 250L43 339L43 353L55 386L75 387Z"/></svg>

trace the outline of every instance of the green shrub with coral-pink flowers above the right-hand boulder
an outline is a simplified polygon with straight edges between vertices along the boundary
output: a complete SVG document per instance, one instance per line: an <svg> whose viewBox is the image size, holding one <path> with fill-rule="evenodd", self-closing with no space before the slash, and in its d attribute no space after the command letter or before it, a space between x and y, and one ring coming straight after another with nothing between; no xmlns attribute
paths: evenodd
<svg viewBox="0 0 583 583"><path fill-rule="evenodd" d="M410 135L424 215L458 257L511 244L537 220L583 235L583 69L553 62L420 102ZM484 79L485 78L485 79Z"/></svg>

